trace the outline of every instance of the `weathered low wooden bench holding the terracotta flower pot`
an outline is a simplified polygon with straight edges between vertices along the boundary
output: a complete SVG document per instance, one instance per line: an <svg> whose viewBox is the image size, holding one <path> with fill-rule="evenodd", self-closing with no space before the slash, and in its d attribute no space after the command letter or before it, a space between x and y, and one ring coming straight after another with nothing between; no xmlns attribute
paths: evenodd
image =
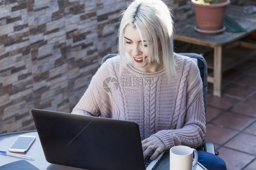
<svg viewBox="0 0 256 170"><path fill-rule="evenodd" d="M174 24L175 40L214 49L212 59L205 56L208 69L213 70L212 73L208 72L208 82L213 83L214 96L221 96L222 72L256 55L256 44L241 41L241 39L256 31L256 13L244 14L243 7L230 5L227 7L226 14L245 28L246 32L231 33L224 31L216 35L201 34L194 29L196 25L195 17ZM241 48L238 49L237 45ZM238 55L238 51L232 56L223 55L225 48L231 47L235 47L234 50L240 50L243 56ZM185 52L192 53L193 51Z"/></svg>

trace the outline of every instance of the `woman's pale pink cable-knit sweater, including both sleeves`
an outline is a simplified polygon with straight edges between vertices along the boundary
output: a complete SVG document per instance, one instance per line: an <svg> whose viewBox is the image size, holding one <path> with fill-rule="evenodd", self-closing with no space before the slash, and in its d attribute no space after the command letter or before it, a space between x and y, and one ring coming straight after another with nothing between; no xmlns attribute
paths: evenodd
<svg viewBox="0 0 256 170"><path fill-rule="evenodd" d="M119 74L120 56L108 59L93 76L72 114L138 123L143 138L157 136L166 149L198 147L206 133L202 80L191 58L174 53L177 74L141 72L127 65Z"/></svg>

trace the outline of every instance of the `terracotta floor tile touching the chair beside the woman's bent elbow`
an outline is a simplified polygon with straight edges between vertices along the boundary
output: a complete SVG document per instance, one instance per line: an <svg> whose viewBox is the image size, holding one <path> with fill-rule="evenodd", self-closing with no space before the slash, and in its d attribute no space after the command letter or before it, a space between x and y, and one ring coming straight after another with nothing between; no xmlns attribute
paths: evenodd
<svg viewBox="0 0 256 170"><path fill-rule="evenodd" d="M213 124L206 125L205 141L213 142L214 144L224 144L230 138L235 136L238 131L233 131L227 128L221 128Z"/></svg>

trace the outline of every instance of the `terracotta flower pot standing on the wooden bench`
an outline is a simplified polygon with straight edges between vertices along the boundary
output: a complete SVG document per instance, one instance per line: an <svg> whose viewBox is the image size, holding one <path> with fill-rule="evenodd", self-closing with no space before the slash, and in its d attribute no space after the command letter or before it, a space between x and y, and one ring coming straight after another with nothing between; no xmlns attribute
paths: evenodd
<svg viewBox="0 0 256 170"><path fill-rule="evenodd" d="M195 7L197 27L202 30L220 30L223 28L225 10L230 0L223 0L219 4L197 4L191 0Z"/></svg>

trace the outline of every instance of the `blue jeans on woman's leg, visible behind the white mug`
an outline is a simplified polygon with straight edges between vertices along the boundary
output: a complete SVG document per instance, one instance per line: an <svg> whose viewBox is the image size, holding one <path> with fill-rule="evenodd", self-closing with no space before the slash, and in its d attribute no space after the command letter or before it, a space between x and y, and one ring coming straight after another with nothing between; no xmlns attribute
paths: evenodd
<svg viewBox="0 0 256 170"><path fill-rule="evenodd" d="M198 162L208 170L227 170L226 163L212 153L198 150Z"/></svg>

